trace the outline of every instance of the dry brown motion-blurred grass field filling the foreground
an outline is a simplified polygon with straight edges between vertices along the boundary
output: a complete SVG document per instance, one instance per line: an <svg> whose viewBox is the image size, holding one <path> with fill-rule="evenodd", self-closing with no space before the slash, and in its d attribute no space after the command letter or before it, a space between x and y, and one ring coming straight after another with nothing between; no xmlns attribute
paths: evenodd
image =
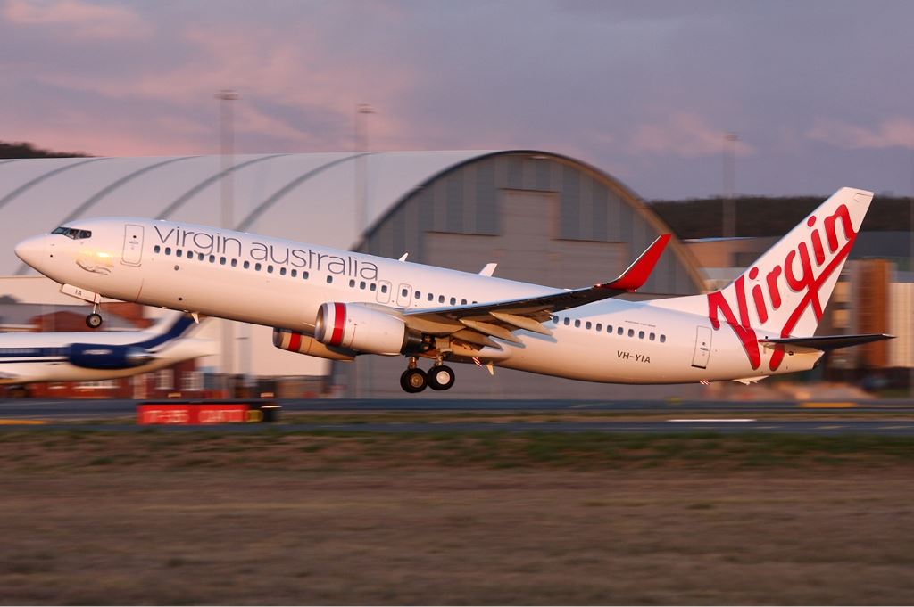
<svg viewBox="0 0 914 607"><path fill-rule="evenodd" d="M914 602L914 439L0 433L0 602Z"/></svg>

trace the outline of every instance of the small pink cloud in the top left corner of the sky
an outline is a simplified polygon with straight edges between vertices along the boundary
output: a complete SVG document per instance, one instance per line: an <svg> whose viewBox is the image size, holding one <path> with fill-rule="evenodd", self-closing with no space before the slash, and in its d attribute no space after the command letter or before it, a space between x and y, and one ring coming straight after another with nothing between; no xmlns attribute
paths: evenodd
<svg viewBox="0 0 914 607"><path fill-rule="evenodd" d="M121 5L94 5L82 0L6 0L2 14L19 26L58 27L80 38L136 38L151 32L140 16Z"/></svg>

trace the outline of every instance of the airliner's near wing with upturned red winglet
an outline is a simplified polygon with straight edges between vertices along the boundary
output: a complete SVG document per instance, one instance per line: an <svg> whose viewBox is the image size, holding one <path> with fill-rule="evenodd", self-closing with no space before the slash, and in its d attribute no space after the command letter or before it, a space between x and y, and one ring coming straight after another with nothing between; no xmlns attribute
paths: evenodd
<svg viewBox="0 0 914 607"><path fill-rule="evenodd" d="M455 338L485 346L496 345L489 337L516 343L518 340L512 331L518 329L551 335L551 331L541 323L549 319L552 312L615 298L643 287L669 240L668 234L658 236L620 277L609 282L532 298L409 310L403 313L403 319L409 327L424 333L451 334Z"/></svg>

